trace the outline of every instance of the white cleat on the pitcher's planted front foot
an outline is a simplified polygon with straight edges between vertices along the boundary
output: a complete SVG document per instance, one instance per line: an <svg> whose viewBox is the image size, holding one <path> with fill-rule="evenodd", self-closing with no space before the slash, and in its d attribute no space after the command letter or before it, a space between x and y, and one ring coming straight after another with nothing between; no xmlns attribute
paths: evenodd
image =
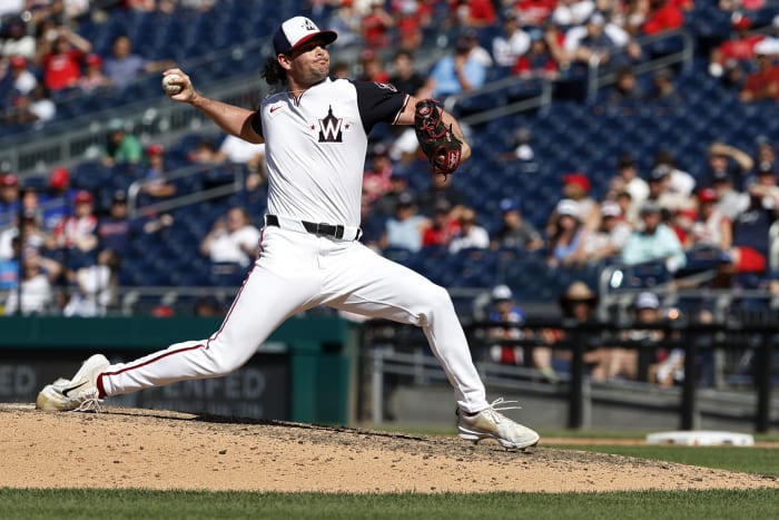
<svg viewBox="0 0 779 520"><path fill-rule="evenodd" d="M519 406L495 408L499 404L514 403L499 398L490 406L476 413L457 410L457 430L461 439L477 443L482 439L494 439L504 448L524 450L539 443L541 436L530 428L519 424L500 410L514 410Z"/></svg>

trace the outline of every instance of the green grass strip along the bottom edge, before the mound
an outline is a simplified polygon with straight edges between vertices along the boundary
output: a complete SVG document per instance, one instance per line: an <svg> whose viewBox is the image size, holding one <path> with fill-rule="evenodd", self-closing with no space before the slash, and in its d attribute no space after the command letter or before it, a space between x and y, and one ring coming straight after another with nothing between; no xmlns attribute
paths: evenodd
<svg viewBox="0 0 779 520"><path fill-rule="evenodd" d="M366 494L0 490L3 519L745 519L776 490Z"/></svg>

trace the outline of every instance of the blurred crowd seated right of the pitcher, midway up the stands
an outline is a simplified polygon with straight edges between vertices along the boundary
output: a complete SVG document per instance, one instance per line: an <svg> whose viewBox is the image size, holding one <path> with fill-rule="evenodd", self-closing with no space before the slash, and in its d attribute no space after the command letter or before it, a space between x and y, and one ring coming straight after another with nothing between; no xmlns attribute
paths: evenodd
<svg viewBox="0 0 779 520"><path fill-rule="evenodd" d="M431 176L430 187L416 192L407 170L384 154L386 176L377 180L372 158L364 189L364 224L383 229L365 241L377 249L514 248L543 255L550 268L660 262L670 273L683 271L693 252L716 249L717 261L707 267L722 274L718 287L732 286L726 272L771 275L769 229L779 187L767 141L755 150L712 143L701 157L709 169L698 179L662 150L648 171L625 154L602 194L593 193L586 174L563 174L559 200L541 229L523 218L513 197L500 202L500 225L487 227L452 179Z"/></svg>

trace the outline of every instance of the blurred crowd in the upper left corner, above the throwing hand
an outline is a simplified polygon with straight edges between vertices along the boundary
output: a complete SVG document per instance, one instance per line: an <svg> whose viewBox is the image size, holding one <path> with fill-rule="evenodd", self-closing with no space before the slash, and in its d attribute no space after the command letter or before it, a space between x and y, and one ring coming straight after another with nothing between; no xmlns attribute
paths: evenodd
<svg viewBox="0 0 779 520"><path fill-rule="evenodd" d="M57 116L68 96L121 91L142 73L160 71L169 57L132 51L128 35L117 35L110 49L98 49L79 33L88 17L108 22L119 11L172 13L179 7L206 11L214 1L145 0L92 2L9 0L0 9L0 120L39 128Z"/></svg>

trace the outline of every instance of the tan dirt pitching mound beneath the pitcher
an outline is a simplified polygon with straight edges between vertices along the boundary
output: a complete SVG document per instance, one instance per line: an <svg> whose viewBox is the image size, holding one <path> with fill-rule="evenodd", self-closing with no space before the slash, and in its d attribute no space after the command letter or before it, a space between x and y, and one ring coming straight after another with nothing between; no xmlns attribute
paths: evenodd
<svg viewBox="0 0 779 520"><path fill-rule="evenodd" d="M542 438L543 443L543 438ZM777 479L544 448L109 408L0 405L0 487L323 492L779 488Z"/></svg>

